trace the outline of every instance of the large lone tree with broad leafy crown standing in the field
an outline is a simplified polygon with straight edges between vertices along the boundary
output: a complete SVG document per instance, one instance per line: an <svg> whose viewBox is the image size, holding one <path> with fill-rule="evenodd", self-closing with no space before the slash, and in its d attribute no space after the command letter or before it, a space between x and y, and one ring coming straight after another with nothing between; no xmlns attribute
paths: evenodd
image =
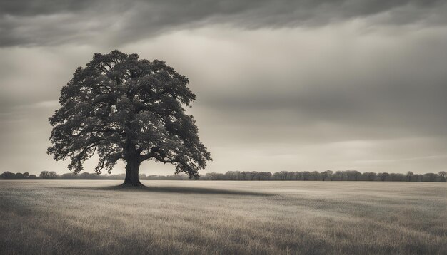
<svg viewBox="0 0 447 255"><path fill-rule="evenodd" d="M185 113L196 99L188 83L164 61L96 53L61 89L61 108L49 118L53 146L47 153L55 160L68 157L74 173L84 170L95 152L98 174L111 173L124 160L125 185L141 185L139 167L145 160L171 163L176 173L198 179L211 155L193 116Z"/></svg>

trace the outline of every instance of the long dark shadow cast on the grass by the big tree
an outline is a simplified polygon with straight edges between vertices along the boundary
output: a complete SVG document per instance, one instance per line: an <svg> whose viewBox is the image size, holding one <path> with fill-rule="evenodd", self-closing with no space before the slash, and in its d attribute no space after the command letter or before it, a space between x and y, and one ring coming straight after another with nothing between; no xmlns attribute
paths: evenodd
<svg viewBox="0 0 447 255"><path fill-rule="evenodd" d="M262 192L250 192L243 190L231 190L231 189L210 189L201 187L152 187L152 186L139 186L139 187L126 187L121 185L116 186L102 186L102 187L60 187L61 189L79 189L79 190L111 190L122 192L160 192L160 193L184 193L184 194L231 194L231 195L244 195L244 196L273 196L274 194L262 193Z"/></svg>

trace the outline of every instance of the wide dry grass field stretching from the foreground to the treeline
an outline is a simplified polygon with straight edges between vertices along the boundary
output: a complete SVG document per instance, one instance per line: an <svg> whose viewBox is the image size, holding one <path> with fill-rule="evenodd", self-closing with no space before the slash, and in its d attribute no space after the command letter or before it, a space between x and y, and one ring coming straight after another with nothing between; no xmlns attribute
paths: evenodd
<svg viewBox="0 0 447 255"><path fill-rule="evenodd" d="M447 184L0 181L0 254L447 254Z"/></svg>

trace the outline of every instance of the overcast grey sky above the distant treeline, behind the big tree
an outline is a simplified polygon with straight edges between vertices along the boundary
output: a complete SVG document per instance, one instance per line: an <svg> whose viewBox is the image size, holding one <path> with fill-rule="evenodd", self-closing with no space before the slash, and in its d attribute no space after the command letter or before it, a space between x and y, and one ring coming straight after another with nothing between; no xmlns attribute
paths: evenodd
<svg viewBox="0 0 447 255"><path fill-rule="evenodd" d="M115 48L189 77L214 158L201 173L446 170L446 13L428 0L1 1L0 172L68 172L46 155L48 118L76 67Z"/></svg>

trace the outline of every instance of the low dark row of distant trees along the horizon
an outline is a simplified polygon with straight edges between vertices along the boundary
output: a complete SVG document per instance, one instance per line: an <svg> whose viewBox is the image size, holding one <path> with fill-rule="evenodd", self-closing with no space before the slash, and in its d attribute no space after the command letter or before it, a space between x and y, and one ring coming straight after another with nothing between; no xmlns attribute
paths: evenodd
<svg viewBox="0 0 447 255"><path fill-rule="evenodd" d="M56 172L42 171L39 176L30 175L28 172L4 172L0 174L0 179L124 179L125 175L96 175L83 172L79 175L66 173L58 175ZM140 175L140 179L188 179L187 175ZM358 172L358 171L331 171L323 172L256 172L256 171L228 171L226 173L210 172L200 177L201 180L231 180L231 181L382 181L382 182L446 182L447 172L441 171L438 174L406 174L388 172Z"/></svg>

